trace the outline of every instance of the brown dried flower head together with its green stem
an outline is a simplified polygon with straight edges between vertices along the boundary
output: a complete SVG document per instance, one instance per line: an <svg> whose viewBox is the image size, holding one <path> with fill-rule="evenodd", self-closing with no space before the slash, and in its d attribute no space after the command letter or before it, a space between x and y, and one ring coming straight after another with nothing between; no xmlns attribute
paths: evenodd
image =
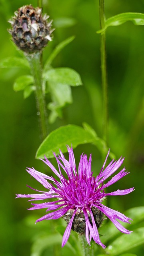
<svg viewBox="0 0 144 256"><path fill-rule="evenodd" d="M42 7L42 0L38 1ZM49 16L42 15L42 8L34 8L31 4L25 5L16 12L9 22L12 27L9 32L16 46L25 53L30 63L31 73L34 77L36 86L36 103L38 116L40 120L41 138L44 140L47 136L47 116L45 107L45 90L42 82L42 50L49 41L52 41L51 25L52 20L48 21Z"/></svg>

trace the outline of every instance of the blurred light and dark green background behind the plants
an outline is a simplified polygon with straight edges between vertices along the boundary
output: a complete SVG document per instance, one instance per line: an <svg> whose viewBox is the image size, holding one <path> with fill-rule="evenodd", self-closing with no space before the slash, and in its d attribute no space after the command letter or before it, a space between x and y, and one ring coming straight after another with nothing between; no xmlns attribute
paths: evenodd
<svg viewBox="0 0 144 256"><path fill-rule="evenodd" d="M105 1L106 18L121 12L144 13L144 1ZM20 6L37 1L0 0L0 59L20 56L10 40L8 19ZM98 0L44 0L44 13L54 20L54 39L45 48L44 60L62 40L76 38L58 54L54 67L70 67L76 70L83 86L72 88L73 104L64 108L63 119L57 119L49 131L65 124L82 126L88 122L98 136L102 136L102 88L100 74L100 35ZM60 27L59 18L71 18L71 26ZM118 159L125 156L124 166L130 174L113 185L114 189L135 187L135 191L123 197L108 199L108 205L124 212L128 208L144 204L144 26L132 22L106 31L109 97L109 147ZM31 255L31 246L39 236L56 234L56 222L34 224L44 211L32 212L26 199L14 199L15 194L31 193L26 184L40 188L25 171L26 167L44 170L44 164L35 160L40 145L38 120L34 94L26 100L22 92L12 89L14 80L27 74L20 68L0 69L0 145L1 145L1 217L0 241L2 256ZM92 153L92 171L97 175L102 166L100 152L93 145L78 146L74 150L76 163L82 152ZM67 155L66 155L67 157ZM129 216L130 217L130 216ZM61 222L61 220L60 220ZM53 224L52 224L53 223ZM56 224L57 223L57 224ZM130 229L130 227L129 227ZM62 236L58 236L60 243ZM67 255L70 249L61 244L51 246L41 255ZM133 252L144 255L144 247ZM33 254L34 256L34 254Z"/></svg>

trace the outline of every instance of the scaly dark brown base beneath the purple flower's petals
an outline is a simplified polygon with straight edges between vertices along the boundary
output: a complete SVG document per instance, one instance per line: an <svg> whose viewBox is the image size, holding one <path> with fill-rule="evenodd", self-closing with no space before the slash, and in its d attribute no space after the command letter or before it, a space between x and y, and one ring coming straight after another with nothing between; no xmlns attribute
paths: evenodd
<svg viewBox="0 0 144 256"><path fill-rule="evenodd" d="M99 228L104 220L104 214L96 207L92 207L91 210L94 216L94 221L96 223L96 226L97 228ZM64 214L64 217L62 217L64 220L66 220L67 224L69 224L72 218L73 212L74 210L69 210L66 214ZM90 224L92 225L92 218L89 212L88 212L88 219L90 221ZM86 220L82 210L80 212L76 212L76 215L74 216L74 220L72 222L72 230L80 233L81 235L85 234Z"/></svg>

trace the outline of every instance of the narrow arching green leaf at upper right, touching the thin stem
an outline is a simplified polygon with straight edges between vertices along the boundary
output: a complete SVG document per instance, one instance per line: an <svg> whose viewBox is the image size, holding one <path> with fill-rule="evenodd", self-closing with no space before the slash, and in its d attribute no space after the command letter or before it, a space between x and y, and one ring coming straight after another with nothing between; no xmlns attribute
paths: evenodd
<svg viewBox="0 0 144 256"><path fill-rule="evenodd" d="M132 21L134 25L144 25L144 14L137 12L124 12L112 16L105 21L104 28L98 30L97 33L104 32L109 26L119 26L129 20Z"/></svg>

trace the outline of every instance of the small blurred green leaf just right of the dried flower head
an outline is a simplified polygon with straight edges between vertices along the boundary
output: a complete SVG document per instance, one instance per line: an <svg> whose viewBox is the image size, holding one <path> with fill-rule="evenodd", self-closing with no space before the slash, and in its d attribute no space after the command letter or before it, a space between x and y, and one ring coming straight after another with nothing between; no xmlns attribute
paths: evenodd
<svg viewBox="0 0 144 256"><path fill-rule="evenodd" d="M68 28L76 24L76 19L61 17L54 20L54 27L56 28Z"/></svg>

